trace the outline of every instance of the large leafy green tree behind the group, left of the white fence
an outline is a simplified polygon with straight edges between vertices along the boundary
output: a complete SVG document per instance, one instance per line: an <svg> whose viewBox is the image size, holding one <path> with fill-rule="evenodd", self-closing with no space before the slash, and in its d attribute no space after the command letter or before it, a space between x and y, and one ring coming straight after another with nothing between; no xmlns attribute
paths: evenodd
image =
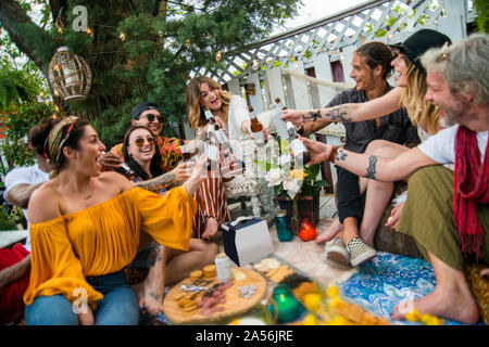
<svg viewBox="0 0 489 347"><path fill-rule="evenodd" d="M43 3L40 23L21 26L41 70L60 46L67 46L90 65L93 81L89 97L62 108L91 120L108 146L122 140L131 107L142 100L160 105L166 116L164 136L183 136L179 130L186 117L189 73L200 67L223 68L223 62L215 60L218 51L224 55L260 40L300 4L296 0L16 2ZM47 10L54 2L63 4L62 30ZM73 29L76 5L87 8L90 35Z"/></svg>

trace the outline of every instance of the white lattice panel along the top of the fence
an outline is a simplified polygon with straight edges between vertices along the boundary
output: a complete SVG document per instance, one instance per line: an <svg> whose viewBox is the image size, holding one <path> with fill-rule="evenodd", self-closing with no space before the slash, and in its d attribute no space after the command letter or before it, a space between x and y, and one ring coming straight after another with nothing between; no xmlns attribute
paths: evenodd
<svg viewBox="0 0 489 347"><path fill-rule="evenodd" d="M223 69L199 73L221 83L235 78L243 80L252 74L263 80L274 67L297 68L299 63L309 67L321 55L327 55L329 62L342 61L348 70L350 56L347 55L363 42L400 42L421 27L438 29L453 41L463 39L467 18L472 18L471 10L469 0L368 1L250 44L240 52L223 53Z"/></svg>

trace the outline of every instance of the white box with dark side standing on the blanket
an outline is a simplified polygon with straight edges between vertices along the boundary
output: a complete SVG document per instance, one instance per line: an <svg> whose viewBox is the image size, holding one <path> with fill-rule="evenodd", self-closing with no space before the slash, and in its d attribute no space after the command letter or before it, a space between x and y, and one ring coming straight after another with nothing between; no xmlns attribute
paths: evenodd
<svg viewBox="0 0 489 347"><path fill-rule="evenodd" d="M239 217L221 226L224 252L238 266L259 260L275 252L266 220Z"/></svg>

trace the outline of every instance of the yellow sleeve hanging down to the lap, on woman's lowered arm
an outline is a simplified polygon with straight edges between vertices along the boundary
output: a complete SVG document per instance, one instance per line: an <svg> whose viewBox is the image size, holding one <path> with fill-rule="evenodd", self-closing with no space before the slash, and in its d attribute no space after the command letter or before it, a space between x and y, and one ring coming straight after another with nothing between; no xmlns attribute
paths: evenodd
<svg viewBox="0 0 489 347"><path fill-rule="evenodd" d="M38 296L61 294L74 303L80 293L95 309L103 295L85 280L82 265L67 237L64 218L30 224L30 281L24 303L33 304ZM86 295L85 295L86 294Z"/></svg>

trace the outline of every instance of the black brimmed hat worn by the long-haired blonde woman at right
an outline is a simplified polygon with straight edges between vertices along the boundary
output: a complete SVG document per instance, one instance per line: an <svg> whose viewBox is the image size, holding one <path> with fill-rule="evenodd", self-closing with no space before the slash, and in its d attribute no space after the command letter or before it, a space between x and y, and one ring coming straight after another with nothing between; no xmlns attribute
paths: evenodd
<svg viewBox="0 0 489 347"><path fill-rule="evenodd" d="M447 35L431 29L421 29L411 35L403 43L389 46L399 49L401 53L408 55L410 61L426 74L419 57L431 48L442 47L444 42L452 43Z"/></svg>

